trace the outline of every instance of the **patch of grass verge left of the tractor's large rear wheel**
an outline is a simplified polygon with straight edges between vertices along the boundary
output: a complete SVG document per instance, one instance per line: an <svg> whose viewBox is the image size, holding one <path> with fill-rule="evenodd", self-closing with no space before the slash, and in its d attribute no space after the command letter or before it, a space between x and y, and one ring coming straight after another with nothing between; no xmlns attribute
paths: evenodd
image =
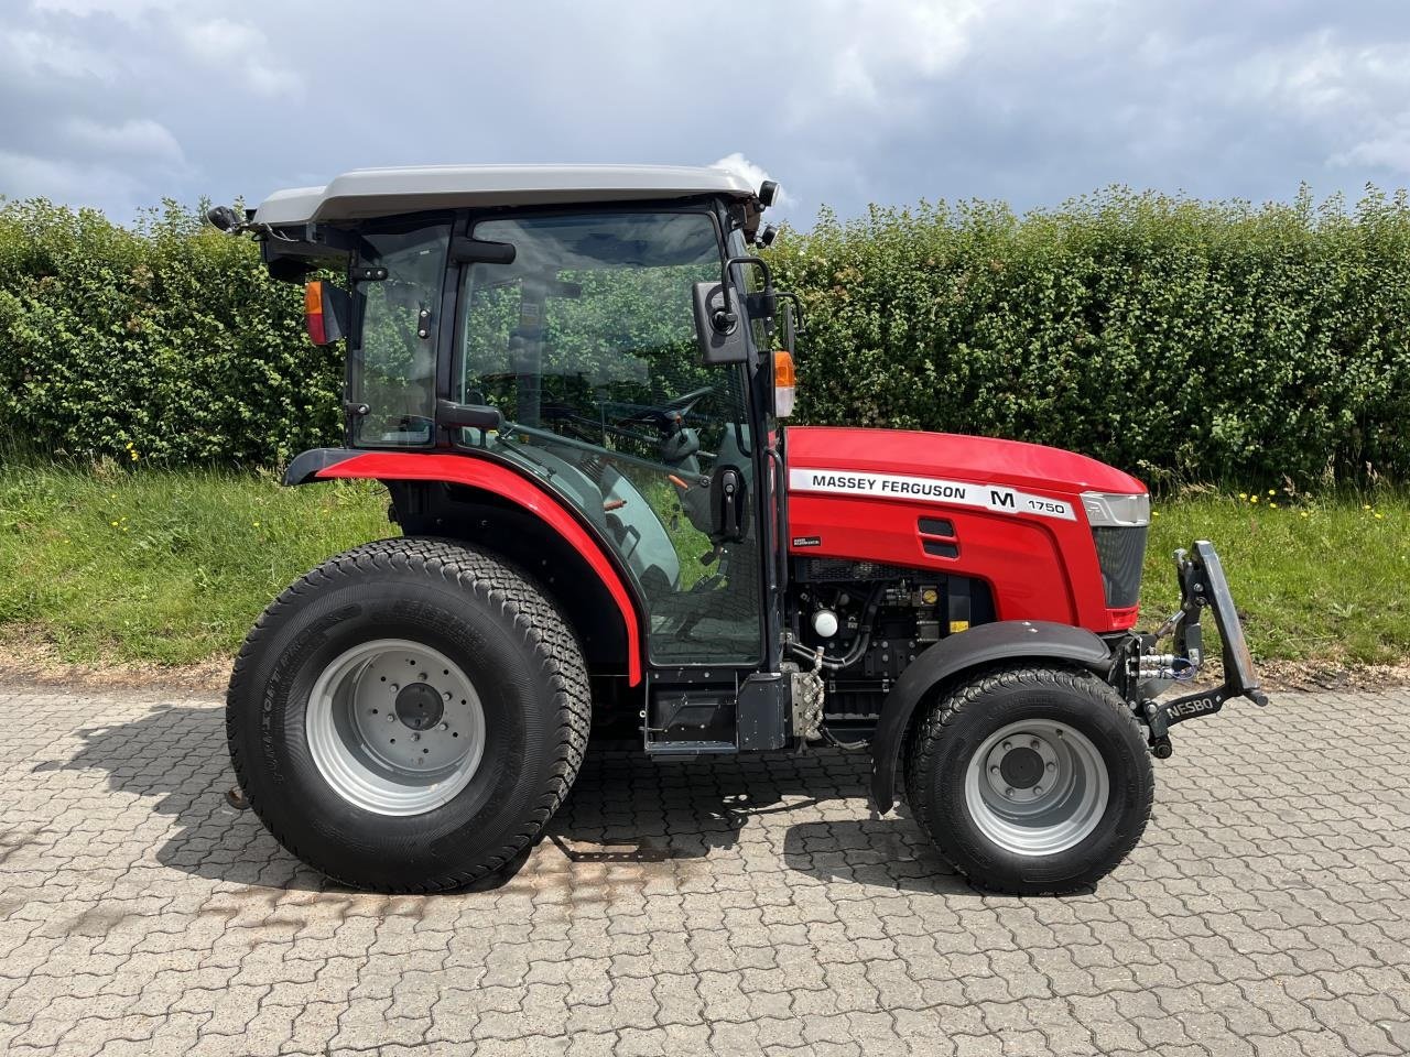
<svg viewBox="0 0 1410 1057"><path fill-rule="evenodd" d="M231 654L330 554L393 536L378 485L268 474L0 466L0 629L65 661Z"/></svg>

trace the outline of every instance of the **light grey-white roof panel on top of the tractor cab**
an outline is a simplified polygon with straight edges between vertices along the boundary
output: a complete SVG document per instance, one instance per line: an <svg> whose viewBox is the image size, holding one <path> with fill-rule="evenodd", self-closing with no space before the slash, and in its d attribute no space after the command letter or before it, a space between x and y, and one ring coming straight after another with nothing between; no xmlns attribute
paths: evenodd
<svg viewBox="0 0 1410 1057"><path fill-rule="evenodd" d="M261 224L360 220L431 209L548 206L757 193L726 169L682 165L424 165L355 169L323 187L279 190L259 203Z"/></svg>

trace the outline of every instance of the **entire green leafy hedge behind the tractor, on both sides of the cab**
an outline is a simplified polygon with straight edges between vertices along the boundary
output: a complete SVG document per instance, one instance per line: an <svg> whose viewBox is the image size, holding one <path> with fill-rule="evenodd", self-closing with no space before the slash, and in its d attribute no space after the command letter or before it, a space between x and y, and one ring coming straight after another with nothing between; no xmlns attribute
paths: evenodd
<svg viewBox="0 0 1410 1057"><path fill-rule="evenodd" d="M1059 444L1151 481L1410 481L1410 206L1112 190L823 213L770 251L801 292L801 419ZM0 440L272 465L338 437L338 348L254 247L0 210ZM128 447L131 445L131 448Z"/></svg>

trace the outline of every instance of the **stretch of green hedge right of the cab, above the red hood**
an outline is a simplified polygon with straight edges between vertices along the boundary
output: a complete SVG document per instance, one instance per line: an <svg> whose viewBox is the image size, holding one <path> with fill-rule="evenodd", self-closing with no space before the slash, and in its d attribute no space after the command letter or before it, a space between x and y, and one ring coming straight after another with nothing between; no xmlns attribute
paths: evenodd
<svg viewBox="0 0 1410 1057"><path fill-rule="evenodd" d="M773 259L808 306L808 420L1019 437L1156 482L1410 479L1403 193L873 209Z"/></svg>

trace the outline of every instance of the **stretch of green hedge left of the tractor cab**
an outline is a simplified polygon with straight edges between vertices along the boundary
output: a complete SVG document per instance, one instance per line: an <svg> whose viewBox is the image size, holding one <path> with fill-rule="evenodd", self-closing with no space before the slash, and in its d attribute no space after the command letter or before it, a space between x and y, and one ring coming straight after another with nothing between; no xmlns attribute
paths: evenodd
<svg viewBox="0 0 1410 1057"><path fill-rule="evenodd" d="M0 211L0 440L79 458L274 465L338 435L341 347L257 248L168 203L135 228ZM131 447L128 447L131 445Z"/></svg>

